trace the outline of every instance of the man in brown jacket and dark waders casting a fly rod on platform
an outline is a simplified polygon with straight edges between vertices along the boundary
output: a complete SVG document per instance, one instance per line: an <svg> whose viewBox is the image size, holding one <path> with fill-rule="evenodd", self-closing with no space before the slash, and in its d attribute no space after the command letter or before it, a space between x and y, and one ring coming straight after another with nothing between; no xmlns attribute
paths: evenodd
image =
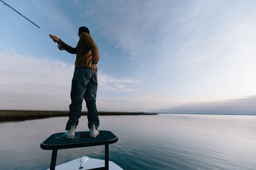
<svg viewBox="0 0 256 170"><path fill-rule="evenodd" d="M98 111L96 107L97 94L97 70L98 70L98 47L89 34L86 27L79 28L79 42L77 47L73 48L64 43L56 36L50 35L50 38L58 44L62 44L64 49L71 54L77 54L75 62L75 71L71 86L71 104L69 105L69 121L66 125L66 138L75 137L75 129L78 126L81 117L83 99L88 109L88 127L90 137L96 137L99 126Z"/></svg>

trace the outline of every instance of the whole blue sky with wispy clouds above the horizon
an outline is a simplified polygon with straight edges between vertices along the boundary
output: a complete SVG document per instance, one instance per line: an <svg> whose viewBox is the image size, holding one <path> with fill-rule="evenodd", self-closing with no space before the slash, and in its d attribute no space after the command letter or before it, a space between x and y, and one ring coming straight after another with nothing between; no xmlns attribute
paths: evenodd
<svg viewBox="0 0 256 170"><path fill-rule="evenodd" d="M98 111L256 114L255 0L4 1L71 47L89 28ZM68 111L76 55L0 4L0 109Z"/></svg>

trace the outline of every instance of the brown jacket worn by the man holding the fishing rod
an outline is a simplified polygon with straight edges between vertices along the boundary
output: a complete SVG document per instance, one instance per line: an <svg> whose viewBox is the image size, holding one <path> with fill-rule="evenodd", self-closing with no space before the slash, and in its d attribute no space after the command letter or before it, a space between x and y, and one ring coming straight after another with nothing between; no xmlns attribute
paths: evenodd
<svg viewBox="0 0 256 170"><path fill-rule="evenodd" d="M98 47L96 46L91 35L86 32L81 33L77 47L70 47L64 43L61 39L61 44L64 45L64 49L71 54L77 54L75 62L75 69L78 67L91 67L92 62L99 60ZM58 43L60 44L60 43Z"/></svg>

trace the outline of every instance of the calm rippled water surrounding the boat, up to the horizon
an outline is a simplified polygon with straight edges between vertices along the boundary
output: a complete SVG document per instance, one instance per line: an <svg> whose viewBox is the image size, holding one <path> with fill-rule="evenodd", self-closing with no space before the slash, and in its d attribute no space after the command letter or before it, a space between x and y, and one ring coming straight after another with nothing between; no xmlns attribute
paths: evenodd
<svg viewBox="0 0 256 170"><path fill-rule="evenodd" d="M48 169L51 151L40 149L40 143L62 132L67 119L0 123L0 169ZM159 114L99 119L99 130L119 138L109 145L109 160L124 170L256 170L256 116ZM87 117L79 122L77 131L89 130ZM83 155L90 158L104 160L104 153L104 146L83 148ZM80 154L81 148L59 150L57 165Z"/></svg>

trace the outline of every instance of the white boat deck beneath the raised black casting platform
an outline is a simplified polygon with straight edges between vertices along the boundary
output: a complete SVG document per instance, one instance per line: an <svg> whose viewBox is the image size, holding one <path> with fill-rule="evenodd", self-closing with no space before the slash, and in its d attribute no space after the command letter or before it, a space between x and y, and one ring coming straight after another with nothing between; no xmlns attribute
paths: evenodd
<svg viewBox="0 0 256 170"><path fill-rule="evenodd" d="M80 160L81 160L81 158L78 158L76 160L60 164L55 167L55 170L79 170ZM84 161L84 160L86 160L86 161ZM112 161L108 161L108 162L109 162L109 170L123 170L114 162L112 162ZM87 156L82 157L81 167L83 167L83 169L81 169L81 170L89 170L89 169L99 168L99 167L104 167L104 166L105 166L104 160L88 158ZM48 170L50 170L50 169L48 169Z"/></svg>

